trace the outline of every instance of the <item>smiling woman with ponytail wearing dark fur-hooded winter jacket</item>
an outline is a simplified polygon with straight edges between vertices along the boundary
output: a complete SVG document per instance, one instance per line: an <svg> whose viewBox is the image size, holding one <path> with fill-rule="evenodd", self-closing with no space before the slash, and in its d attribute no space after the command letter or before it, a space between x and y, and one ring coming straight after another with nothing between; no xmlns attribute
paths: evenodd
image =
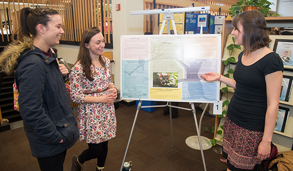
<svg viewBox="0 0 293 171"><path fill-rule="evenodd" d="M23 8L18 40L0 56L7 74L15 70L24 130L42 171L63 170L66 151L79 138L64 84L66 67L50 50L64 34L61 26L53 9Z"/></svg>

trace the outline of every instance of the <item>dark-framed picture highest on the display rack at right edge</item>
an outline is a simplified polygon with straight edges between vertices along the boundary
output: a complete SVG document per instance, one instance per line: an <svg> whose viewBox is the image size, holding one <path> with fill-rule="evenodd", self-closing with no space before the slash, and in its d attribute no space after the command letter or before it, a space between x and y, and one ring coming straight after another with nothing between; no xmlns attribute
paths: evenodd
<svg viewBox="0 0 293 171"><path fill-rule="evenodd" d="M276 39L273 51L280 55L284 65L293 66L293 40Z"/></svg>

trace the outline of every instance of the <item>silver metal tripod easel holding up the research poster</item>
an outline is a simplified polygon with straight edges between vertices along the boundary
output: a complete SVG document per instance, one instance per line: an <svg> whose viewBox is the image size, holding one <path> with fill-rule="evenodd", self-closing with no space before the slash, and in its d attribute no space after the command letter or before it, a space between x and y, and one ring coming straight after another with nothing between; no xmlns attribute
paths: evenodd
<svg viewBox="0 0 293 171"><path fill-rule="evenodd" d="M180 9L133 11L133 12L130 12L130 14L131 15L146 15L146 14L164 13L164 19L163 19L163 24L162 24L162 27L161 27L161 30L160 30L160 35L163 34L163 30L164 30L164 27L165 27L165 24L166 24L167 20L168 20L168 34L170 34L170 21L171 21L172 26L173 26L173 30L174 30L174 34L177 35L177 30L176 30L175 21L174 21L174 13L193 12L193 11L209 11L209 10L210 10L210 7L192 7L192 8L190 7L190 8L180 8ZM202 34L202 28L201 28L201 34ZM198 121L197 121L197 116L196 116L196 109L194 108L194 104L192 102L190 102L189 104L191 106L191 109L188 109L188 108L182 108L182 107L178 107L178 106L172 106L171 102L167 102L166 105L156 105L156 106L141 106L141 103L142 103L142 101L139 99L139 103L138 103L137 108L136 108L134 121L133 121L132 128L131 128L131 131L130 131L130 135L129 135L129 139L128 139L128 143L127 143L127 147L126 147L126 150L125 150L125 154L124 154L124 158L123 158L123 161L122 161L120 171L122 171L122 168L123 168L123 164L124 164L124 161L125 161L125 158L126 158L126 154L127 154L127 151L128 151L128 147L129 147L129 144L130 144L130 140L131 140L131 137L132 137L132 133L133 133L133 130L134 130L134 126L135 126L135 123L136 123L136 119L137 119L137 116L138 116L139 109L140 108L153 108L153 107L169 107L170 129L171 129L171 147L173 147L172 109L171 108L173 107L173 108L192 111L192 114L193 114L193 117L194 117L194 122L196 123L196 129L197 129L197 134L198 134L198 139L199 139L198 142L199 142L199 146L200 146L200 149L201 149L203 164L204 164L205 171L207 171L204 151L203 151L202 143L201 143L201 136L200 136L199 126L198 126ZM206 108L207 108L207 106L208 106L208 104L206 105ZM205 110L206 110L206 108L205 108ZM203 111L202 117L204 115L205 110ZM202 117L201 117L201 119L202 119ZM200 124L201 124L201 121L200 121Z"/></svg>

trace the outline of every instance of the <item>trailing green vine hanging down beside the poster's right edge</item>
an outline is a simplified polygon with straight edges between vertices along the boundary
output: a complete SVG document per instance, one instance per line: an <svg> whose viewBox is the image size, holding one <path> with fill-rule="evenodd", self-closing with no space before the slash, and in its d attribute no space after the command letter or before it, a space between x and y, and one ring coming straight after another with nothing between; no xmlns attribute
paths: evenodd
<svg viewBox="0 0 293 171"><path fill-rule="evenodd" d="M235 45L235 39L234 39L234 37L232 37L232 40L233 40L233 43L231 43L230 45L227 46L227 50L229 51L229 58L227 58L224 61L224 65L225 65L225 69L227 70L227 73L224 73L223 76L228 77L228 78L230 78L230 74L233 74L234 73L234 69L231 68L230 64L231 63L236 63L235 57L232 56L233 50L235 48L236 49L241 49L241 47L239 45ZM222 115L218 115L219 118L222 118L222 117L226 116L226 114L227 114L227 109L228 109L228 105L229 105L228 88L229 88L229 85L226 84L226 87L224 87L224 88L221 89L221 92L226 97L226 100L223 101L222 108L224 110L222 110ZM220 126L220 128L222 130L224 130L224 126L223 125ZM206 127L206 130L209 131L209 132L214 133L215 132L215 127L212 127L212 130L211 131L209 130L209 127ZM218 135L221 135L223 133L222 130L217 131L217 134ZM219 142L219 141L222 140L222 138L220 140L210 139L209 142L213 146L215 146L217 142Z"/></svg>

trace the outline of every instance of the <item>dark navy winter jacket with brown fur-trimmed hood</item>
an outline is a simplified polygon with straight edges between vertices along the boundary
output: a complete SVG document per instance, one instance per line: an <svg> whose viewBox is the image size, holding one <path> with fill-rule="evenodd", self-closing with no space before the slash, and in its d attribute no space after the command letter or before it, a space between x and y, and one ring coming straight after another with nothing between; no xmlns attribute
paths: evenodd
<svg viewBox="0 0 293 171"><path fill-rule="evenodd" d="M7 63L16 61L10 66L16 66L19 109L32 155L48 157L59 154L75 144L79 132L57 56L52 53L53 57L45 56L31 40L18 46L20 53L11 51L16 47L8 48L0 56L0 65L10 72L9 69L13 68L7 64L4 66L2 58L7 57ZM28 48L24 50L24 47ZM62 139L63 143L59 143Z"/></svg>

